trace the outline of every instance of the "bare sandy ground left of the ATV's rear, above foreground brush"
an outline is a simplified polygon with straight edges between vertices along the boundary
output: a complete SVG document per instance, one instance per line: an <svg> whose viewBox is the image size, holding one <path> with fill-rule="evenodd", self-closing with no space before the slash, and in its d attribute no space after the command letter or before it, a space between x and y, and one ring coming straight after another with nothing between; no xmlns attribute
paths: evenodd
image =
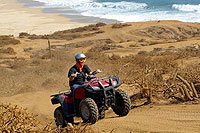
<svg viewBox="0 0 200 133"><path fill-rule="evenodd" d="M51 105L50 95L57 92L38 91L19 94L12 97L1 97L0 101L27 108L29 112L38 114L41 120L52 118L55 106Z"/></svg>

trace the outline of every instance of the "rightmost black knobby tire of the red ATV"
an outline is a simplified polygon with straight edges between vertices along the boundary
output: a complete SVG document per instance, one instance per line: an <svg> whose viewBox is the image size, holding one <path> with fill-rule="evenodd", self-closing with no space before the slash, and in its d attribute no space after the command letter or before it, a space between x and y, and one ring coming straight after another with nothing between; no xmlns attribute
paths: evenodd
<svg viewBox="0 0 200 133"><path fill-rule="evenodd" d="M131 109L131 101L129 96L123 90L116 90L115 92L115 105L112 106L115 114L119 116L126 116Z"/></svg>

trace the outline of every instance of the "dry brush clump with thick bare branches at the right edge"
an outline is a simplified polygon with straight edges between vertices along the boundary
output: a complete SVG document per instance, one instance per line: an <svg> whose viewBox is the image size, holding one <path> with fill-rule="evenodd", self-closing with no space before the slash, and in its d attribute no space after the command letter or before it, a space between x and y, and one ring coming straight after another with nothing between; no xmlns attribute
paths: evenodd
<svg viewBox="0 0 200 133"><path fill-rule="evenodd" d="M199 65L189 65L187 68L174 69L171 78L166 82L163 96L171 103L192 101L199 103L200 70Z"/></svg>

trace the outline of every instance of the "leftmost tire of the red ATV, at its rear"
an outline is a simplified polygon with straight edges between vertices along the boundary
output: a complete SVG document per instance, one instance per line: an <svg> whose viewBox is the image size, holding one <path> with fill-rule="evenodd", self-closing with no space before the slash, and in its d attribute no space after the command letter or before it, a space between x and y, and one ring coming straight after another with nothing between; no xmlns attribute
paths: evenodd
<svg viewBox="0 0 200 133"><path fill-rule="evenodd" d="M65 116L62 110L62 107L59 106L54 111L54 118L57 126L65 127Z"/></svg>

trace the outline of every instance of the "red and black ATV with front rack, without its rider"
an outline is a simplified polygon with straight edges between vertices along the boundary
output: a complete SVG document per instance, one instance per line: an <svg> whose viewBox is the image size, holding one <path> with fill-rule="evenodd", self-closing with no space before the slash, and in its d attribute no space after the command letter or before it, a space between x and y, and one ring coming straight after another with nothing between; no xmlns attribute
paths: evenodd
<svg viewBox="0 0 200 133"><path fill-rule="evenodd" d="M96 72L87 76L83 87L74 92L59 92L51 95L52 104L60 104L54 111L57 126L73 123L73 117L81 117L83 122L94 124L105 117L109 107L118 116L126 116L131 109L130 98L126 92L117 89L121 82L118 76L97 78Z"/></svg>

